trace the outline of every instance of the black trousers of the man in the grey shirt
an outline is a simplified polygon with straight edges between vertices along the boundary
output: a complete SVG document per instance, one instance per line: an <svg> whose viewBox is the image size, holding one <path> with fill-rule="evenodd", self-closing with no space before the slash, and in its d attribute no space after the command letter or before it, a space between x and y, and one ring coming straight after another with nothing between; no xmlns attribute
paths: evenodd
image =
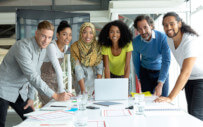
<svg viewBox="0 0 203 127"><path fill-rule="evenodd" d="M23 115L33 111L31 107L24 110L24 106L27 104L27 101L24 102L20 95L15 103L0 98L0 127L5 127L8 106L11 106L22 120L25 120L26 117Z"/></svg>

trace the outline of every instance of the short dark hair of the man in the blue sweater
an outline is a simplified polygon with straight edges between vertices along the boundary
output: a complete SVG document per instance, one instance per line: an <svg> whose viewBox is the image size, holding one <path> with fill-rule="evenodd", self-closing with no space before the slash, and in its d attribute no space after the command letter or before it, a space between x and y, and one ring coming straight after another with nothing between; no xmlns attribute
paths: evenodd
<svg viewBox="0 0 203 127"><path fill-rule="evenodd" d="M139 15L134 20L134 25L133 26L135 27L135 29L137 29L137 22L142 21L142 20L146 20L148 25L152 26L152 29L155 28L154 27L154 21L150 16L148 16L148 15Z"/></svg>

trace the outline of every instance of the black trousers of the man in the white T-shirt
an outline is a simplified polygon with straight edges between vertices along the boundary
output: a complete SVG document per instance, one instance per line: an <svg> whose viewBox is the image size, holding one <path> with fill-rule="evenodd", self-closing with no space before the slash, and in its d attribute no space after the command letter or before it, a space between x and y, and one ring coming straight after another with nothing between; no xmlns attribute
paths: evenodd
<svg viewBox="0 0 203 127"><path fill-rule="evenodd" d="M185 95L188 113L203 121L203 79L188 80Z"/></svg>

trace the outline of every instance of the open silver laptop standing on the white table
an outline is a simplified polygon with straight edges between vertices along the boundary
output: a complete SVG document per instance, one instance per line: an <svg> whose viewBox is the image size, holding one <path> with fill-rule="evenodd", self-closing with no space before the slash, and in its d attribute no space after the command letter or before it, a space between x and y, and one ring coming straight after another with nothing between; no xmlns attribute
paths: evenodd
<svg viewBox="0 0 203 127"><path fill-rule="evenodd" d="M95 100L128 99L128 78L95 79Z"/></svg>

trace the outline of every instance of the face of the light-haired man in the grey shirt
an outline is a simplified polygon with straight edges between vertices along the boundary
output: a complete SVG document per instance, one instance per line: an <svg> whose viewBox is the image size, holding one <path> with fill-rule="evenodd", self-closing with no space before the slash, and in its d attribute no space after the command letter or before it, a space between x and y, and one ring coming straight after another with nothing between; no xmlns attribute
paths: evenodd
<svg viewBox="0 0 203 127"><path fill-rule="evenodd" d="M46 48L52 40L54 32L52 30L41 29L35 32L35 39L40 48Z"/></svg>

